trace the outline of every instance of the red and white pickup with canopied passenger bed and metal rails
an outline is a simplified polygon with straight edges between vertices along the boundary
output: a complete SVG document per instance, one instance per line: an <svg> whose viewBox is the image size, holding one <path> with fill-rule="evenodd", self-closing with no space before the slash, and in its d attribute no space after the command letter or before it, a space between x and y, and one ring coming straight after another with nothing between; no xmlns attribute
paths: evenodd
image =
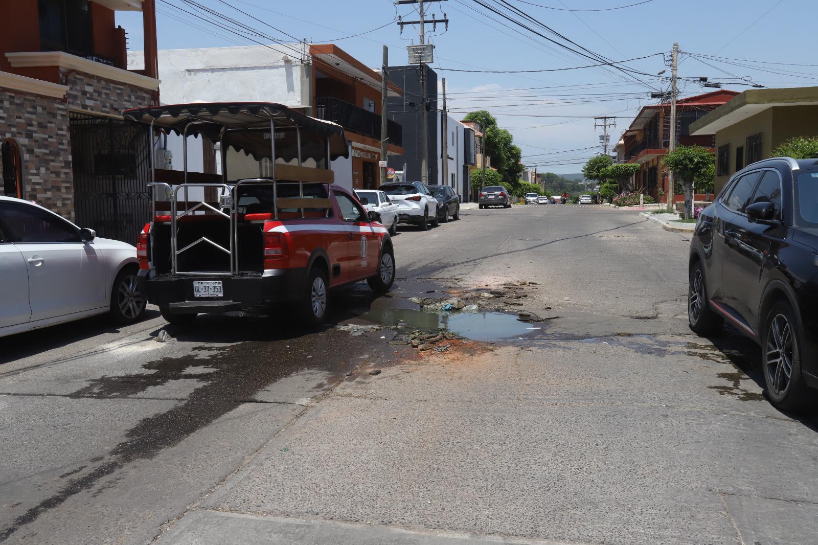
<svg viewBox="0 0 818 545"><path fill-rule="evenodd" d="M331 288L362 280L375 291L391 288L393 246L380 214L367 214L332 183L330 160L348 153L339 125L266 102L155 106L124 115L150 124L151 141L160 128L221 144L220 179L186 169L184 181L217 179L149 184L153 220L137 244L138 282L169 322L288 302L315 325L326 316ZM234 164L246 171L245 154L269 175L231 180Z"/></svg>

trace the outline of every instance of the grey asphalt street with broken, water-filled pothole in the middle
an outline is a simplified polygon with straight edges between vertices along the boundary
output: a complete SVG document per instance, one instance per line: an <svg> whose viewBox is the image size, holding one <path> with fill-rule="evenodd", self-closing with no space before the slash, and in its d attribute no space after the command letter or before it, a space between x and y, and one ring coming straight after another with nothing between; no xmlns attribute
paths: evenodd
<svg viewBox="0 0 818 545"><path fill-rule="evenodd" d="M735 331L691 334L686 238L464 211L403 227L391 296L335 294L323 331L151 310L2 339L0 541L816 543L816 419L771 407ZM449 295L500 314L408 300ZM472 340L395 341L438 324Z"/></svg>

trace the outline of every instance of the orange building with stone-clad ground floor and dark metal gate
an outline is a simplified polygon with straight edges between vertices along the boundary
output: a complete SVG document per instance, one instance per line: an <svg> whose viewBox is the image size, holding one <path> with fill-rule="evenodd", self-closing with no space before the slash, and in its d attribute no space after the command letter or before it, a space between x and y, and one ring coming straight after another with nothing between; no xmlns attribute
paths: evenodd
<svg viewBox="0 0 818 545"><path fill-rule="evenodd" d="M144 70L127 70L115 11L142 11ZM133 241L147 209L146 135L123 110L159 101L154 0L19 0L0 19L2 194Z"/></svg>

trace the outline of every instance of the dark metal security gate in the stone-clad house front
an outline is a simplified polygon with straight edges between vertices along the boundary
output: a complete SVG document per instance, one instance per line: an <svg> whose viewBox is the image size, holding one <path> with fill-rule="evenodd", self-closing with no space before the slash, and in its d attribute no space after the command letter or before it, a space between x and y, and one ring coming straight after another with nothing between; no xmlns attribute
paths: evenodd
<svg viewBox="0 0 818 545"><path fill-rule="evenodd" d="M149 220L151 144L145 128L70 112L74 223L135 244Z"/></svg>

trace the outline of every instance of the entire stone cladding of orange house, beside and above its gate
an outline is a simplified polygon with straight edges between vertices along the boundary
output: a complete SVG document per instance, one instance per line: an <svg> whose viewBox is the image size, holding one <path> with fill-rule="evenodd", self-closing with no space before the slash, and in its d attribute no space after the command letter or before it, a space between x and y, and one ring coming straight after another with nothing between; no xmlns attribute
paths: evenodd
<svg viewBox="0 0 818 545"><path fill-rule="evenodd" d="M20 146L25 198L73 221L69 110L122 115L155 104L156 93L74 70L61 70L61 79L65 101L0 89L0 134Z"/></svg>

